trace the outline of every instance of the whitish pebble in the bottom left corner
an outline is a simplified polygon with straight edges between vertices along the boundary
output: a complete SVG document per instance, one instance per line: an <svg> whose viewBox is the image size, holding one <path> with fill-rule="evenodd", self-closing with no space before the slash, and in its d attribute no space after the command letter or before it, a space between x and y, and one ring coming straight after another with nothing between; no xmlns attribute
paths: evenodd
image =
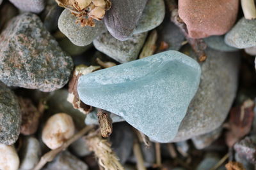
<svg viewBox="0 0 256 170"><path fill-rule="evenodd" d="M20 160L15 148L0 143L0 169L17 170L19 164Z"/></svg>

